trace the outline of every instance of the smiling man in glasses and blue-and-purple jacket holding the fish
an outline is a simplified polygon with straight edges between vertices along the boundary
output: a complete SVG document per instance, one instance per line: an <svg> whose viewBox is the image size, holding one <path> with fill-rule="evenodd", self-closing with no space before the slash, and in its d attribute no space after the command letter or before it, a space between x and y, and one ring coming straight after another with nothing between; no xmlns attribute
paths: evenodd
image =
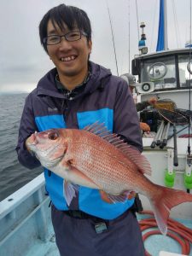
<svg viewBox="0 0 192 256"><path fill-rule="evenodd" d="M137 110L125 81L89 61L91 28L84 10L65 4L50 9L40 22L39 35L55 68L26 97L16 148L20 163L31 169L40 165L26 149L33 132L83 129L97 120L142 151ZM68 207L63 179L46 169L44 177L61 255L144 255L141 230L131 212L133 198L109 204L97 189L81 187Z"/></svg>

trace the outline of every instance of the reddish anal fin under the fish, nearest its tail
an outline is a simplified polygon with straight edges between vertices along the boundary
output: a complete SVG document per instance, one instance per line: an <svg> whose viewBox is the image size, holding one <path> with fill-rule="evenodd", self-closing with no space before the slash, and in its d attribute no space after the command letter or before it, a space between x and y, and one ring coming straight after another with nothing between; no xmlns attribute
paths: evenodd
<svg viewBox="0 0 192 256"><path fill-rule="evenodd" d="M113 204L116 202L125 202L127 199L131 200L136 196L136 193L134 191L127 190L120 195L111 195L103 190L100 190L100 195L103 201L106 201L109 204Z"/></svg>

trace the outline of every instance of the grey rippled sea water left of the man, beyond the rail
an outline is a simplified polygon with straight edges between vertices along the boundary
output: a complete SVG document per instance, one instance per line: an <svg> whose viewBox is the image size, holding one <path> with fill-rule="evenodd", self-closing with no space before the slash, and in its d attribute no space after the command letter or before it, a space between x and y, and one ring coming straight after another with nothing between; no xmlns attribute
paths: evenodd
<svg viewBox="0 0 192 256"><path fill-rule="evenodd" d="M43 172L42 167L26 169L17 160L15 147L26 96L0 94L0 201Z"/></svg>

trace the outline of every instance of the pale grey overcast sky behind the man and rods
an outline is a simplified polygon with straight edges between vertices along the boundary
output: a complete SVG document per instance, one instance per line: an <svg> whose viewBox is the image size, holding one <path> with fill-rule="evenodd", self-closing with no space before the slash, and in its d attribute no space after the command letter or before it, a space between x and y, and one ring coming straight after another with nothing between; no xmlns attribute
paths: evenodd
<svg viewBox="0 0 192 256"><path fill-rule="evenodd" d="M137 2L137 9L136 9ZM30 91L53 67L39 43L38 24L44 14L60 3L84 9L92 26L91 61L117 74L106 0L1 0L0 1L0 92ZM183 48L189 40L189 0L167 0L168 46ZM138 54L139 24L146 24L148 52L155 51L159 20L159 0L108 0L119 75L131 72L129 65ZM130 26L130 32L129 32ZM139 37L141 30L139 30ZM130 35L130 46L129 46Z"/></svg>

